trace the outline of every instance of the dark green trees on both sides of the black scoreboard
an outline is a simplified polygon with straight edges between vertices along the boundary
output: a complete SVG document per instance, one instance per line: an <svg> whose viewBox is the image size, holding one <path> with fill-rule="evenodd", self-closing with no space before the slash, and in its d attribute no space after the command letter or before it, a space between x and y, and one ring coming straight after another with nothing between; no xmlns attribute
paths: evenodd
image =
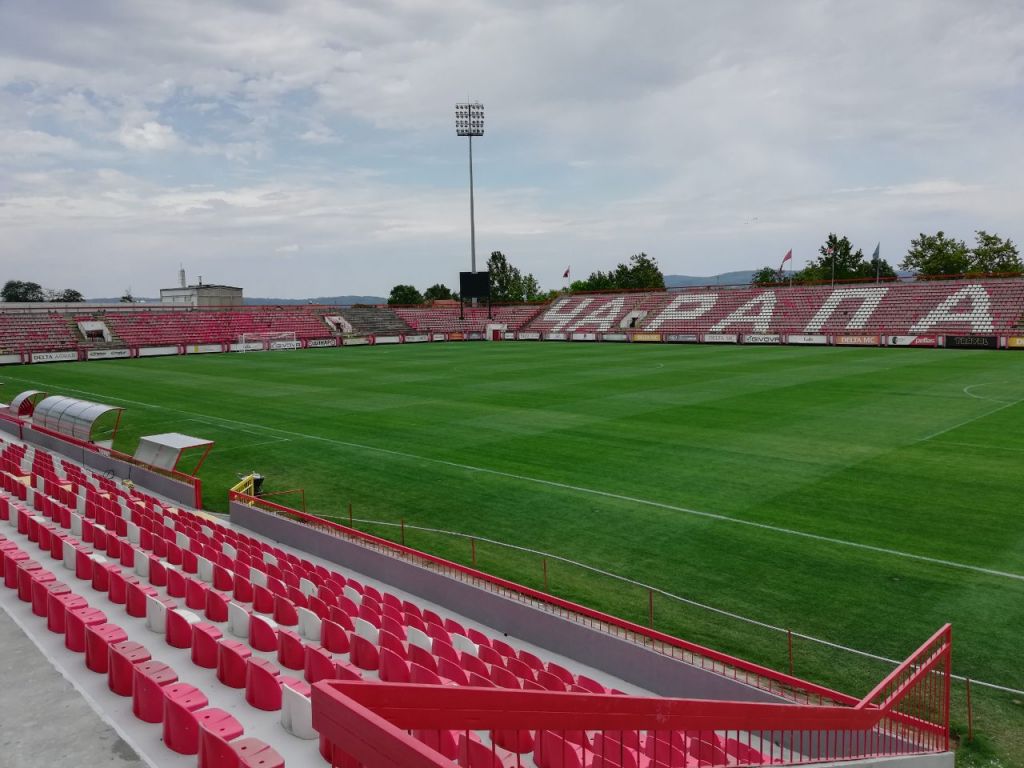
<svg viewBox="0 0 1024 768"><path fill-rule="evenodd" d="M524 273L514 266L501 251L494 251L487 259L490 273L490 300L495 303L541 301L558 296L561 291L543 291L532 273ZM645 253L633 254L628 261L608 271L591 272L585 280L569 285L570 291L628 291L665 288L665 275L657 261ZM387 303L424 304L437 299L459 299L459 294L447 286L436 283L420 293L415 286L397 285L391 289Z"/></svg>

